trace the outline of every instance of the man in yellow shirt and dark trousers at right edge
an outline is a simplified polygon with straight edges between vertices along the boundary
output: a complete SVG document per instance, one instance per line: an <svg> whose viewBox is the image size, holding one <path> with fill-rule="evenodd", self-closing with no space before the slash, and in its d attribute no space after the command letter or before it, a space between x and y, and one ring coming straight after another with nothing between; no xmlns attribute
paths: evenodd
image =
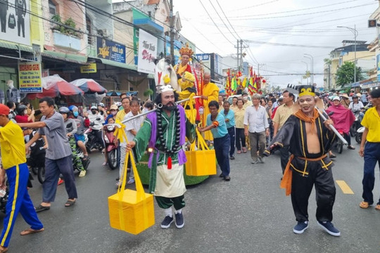
<svg viewBox="0 0 380 253"><path fill-rule="evenodd" d="M376 163L380 162L380 89L374 89L370 93L372 97L372 108L365 112L362 120L362 126L365 126L365 131L360 143L359 155L364 157L364 175L362 180L363 201L360 202L360 207L367 209L374 203L375 173ZM380 199L376 202L376 210L380 211Z"/></svg>

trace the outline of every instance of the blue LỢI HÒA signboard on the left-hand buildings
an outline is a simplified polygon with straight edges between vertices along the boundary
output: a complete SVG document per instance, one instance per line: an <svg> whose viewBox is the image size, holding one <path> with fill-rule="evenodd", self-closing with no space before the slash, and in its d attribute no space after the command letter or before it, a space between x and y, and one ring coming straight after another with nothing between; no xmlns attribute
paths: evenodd
<svg viewBox="0 0 380 253"><path fill-rule="evenodd" d="M96 57L113 60L118 63L125 63L125 45L97 37Z"/></svg>

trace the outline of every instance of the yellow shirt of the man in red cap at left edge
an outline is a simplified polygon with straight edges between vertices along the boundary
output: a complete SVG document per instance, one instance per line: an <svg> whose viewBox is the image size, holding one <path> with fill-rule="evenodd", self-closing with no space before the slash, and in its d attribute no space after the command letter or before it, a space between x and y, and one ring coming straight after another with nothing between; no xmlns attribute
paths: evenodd
<svg viewBox="0 0 380 253"><path fill-rule="evenodd" d="M26 162L23 130L9 121L0 129L1 160L4 169Z"/></svg>

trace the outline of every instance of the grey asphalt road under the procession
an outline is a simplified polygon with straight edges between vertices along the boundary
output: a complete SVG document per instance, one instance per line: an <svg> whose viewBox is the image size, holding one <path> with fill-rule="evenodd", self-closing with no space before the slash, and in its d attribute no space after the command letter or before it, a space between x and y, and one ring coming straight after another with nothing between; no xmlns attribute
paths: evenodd
<svg viewBox="0 0 380 253"><path fill-rule="evenodd" d="M87 176L77 178L80 198L75 206L63 206L67 195L64 186L58 186L56 202L39 214L46 228L43 233L18 235L27 228L19 216L9 252L380 252L380 212L358 207L363 162L357 150L343 150L334 167L334 179L353 190L345 194L337 186L333 222L341 230L339 238L317 226L314 193L310 227L302 235L294 234L291 200L279 188L279 156L252 165L248 153L231 162L230 182L211 176L188 189L182 230L160 228L163 213L155 204L153 227L139 235L117 231L109 226L107 197L115 193L118 171L102 167L102 162L100 154L91 155ZM376 199L379 169L375 189ZM30 194L38 205L42 187L37 180Z"/></svg>

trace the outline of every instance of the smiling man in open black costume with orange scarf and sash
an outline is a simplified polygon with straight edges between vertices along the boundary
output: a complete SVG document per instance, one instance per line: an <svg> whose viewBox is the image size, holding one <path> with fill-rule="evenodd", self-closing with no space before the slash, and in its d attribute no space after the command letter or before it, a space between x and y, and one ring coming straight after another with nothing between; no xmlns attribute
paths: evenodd
<svg viewBox="0 0 380 253"><path fill-rule="evenodd" d="M331 119L323 122L319 116L314 89L311 85L298 87L297 106L300 109L286 120L265 154L289 146L291 157L286 164L281 188L286 189L286 195L291 194L298 221L293 232L303 233L309 226L308 200L315 185L317 223L330 235L339 236L341 233L331 223L336 189L331 171L333 163L327 157L336 137L329 128L329 124L334 123Z"/></svg>

